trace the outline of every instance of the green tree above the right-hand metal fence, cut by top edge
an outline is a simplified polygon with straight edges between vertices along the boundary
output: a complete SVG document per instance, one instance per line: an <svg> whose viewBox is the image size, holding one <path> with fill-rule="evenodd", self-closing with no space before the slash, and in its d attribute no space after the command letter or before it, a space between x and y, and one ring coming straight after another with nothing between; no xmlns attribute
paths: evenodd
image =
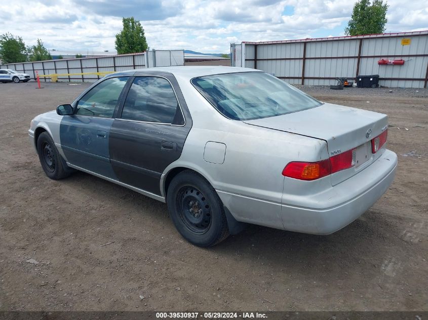
<svg viewBox="0 0 428 320"><path fill-rule="evenodd" d="M388 5L383 0L358 0L354 5L351 20L345 28L346 35L383 33L385 31Z"/></svg>

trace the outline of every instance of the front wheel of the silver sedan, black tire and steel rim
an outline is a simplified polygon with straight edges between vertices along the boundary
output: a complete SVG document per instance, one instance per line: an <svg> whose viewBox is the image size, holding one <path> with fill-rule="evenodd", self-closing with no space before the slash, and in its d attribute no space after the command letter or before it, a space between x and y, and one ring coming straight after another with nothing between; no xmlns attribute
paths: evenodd
<svg viewBox="0 0 428 320"><path fill-rule="evenodd" d="M37 154L43 170L51 179L59 180L70 175L70 170L66 167L48 132L42 132L38 136Z"/></svg>

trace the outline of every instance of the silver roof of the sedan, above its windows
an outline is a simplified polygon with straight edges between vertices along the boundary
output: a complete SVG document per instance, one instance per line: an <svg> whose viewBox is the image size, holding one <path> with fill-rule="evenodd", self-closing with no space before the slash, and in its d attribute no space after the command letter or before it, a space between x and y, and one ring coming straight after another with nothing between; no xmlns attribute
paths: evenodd
<svg viewBox="0 0 428 320"><path fill-rule="evenodd" d="M112 75L127 75L127 74L162 74L165 72L171 73L174 76L182 78L194 78L202 77L206 75L213 74L224 74L224 73L236 73L236 72L255 72L260 70L250 69L250 68L238 68L238 67L224 67L224 66L175 66L175 67L155 67L155 68L144 68L144 69L135 69L128 71L120 71Z"/></svg>

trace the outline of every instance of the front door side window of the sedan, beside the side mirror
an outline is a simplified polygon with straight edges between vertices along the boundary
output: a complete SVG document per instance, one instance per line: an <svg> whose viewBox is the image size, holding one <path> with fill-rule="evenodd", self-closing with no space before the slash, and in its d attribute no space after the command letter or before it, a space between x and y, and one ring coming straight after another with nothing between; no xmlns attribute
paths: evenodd
<svg viewBox="0 0 428 320"><path fill-rule="evenodd" d="M110 78L93 87L79 100L76 115L111 118L128 78Z"/></svg>

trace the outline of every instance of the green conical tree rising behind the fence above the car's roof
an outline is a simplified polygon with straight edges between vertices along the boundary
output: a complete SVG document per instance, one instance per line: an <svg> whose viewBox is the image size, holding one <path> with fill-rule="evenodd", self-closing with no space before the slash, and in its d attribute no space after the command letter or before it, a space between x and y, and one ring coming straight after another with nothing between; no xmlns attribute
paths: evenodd
<svg viewBox="0 0 428 320"><path fill-rule="evenodd" d="M123 18L123 30L116 34L115 48L119 55L147 51L147 40L140 21Z"/></svg>

